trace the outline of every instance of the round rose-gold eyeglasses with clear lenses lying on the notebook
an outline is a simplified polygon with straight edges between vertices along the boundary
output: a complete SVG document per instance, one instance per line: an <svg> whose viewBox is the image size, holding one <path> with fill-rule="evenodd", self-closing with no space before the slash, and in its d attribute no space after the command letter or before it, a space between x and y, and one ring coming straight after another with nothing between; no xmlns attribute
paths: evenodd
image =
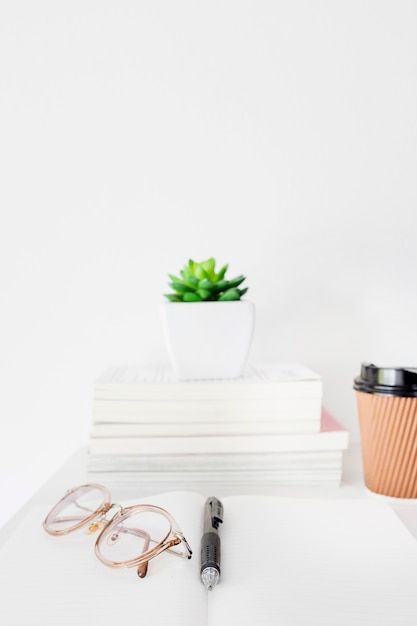
<svg viewBox="0 0 417 626"><path fill-rule="evenodd" d="M107 519L114 510L113 517ZM101 530L94 550L102 563L115 568L137 567L139 578L146 576L149 561L165 550L191 558L186 538L165 509L152 504L123 508L111 502L102 485L70 489L43 522L51 535L67 535L86 526L90 533Z"/></svg>

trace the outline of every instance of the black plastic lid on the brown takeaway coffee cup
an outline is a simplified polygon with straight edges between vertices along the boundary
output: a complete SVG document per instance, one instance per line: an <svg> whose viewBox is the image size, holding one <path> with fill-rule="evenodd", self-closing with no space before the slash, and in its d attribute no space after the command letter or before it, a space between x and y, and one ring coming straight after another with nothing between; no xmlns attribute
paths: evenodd
<svg viewBox="0 0 417 626"><path fill-rule="evenodd" d="M362 363L361 375L355 378L353 388L365 393L414 398L417 397L417 368Z"/></svg>

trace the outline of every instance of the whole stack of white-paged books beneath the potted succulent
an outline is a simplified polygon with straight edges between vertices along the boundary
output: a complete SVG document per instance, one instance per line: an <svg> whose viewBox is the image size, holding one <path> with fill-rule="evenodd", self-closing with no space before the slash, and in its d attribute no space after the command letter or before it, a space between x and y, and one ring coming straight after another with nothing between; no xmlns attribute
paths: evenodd
<svg viewBox="0 0 417 626"><path fill-rule="evenodd" d="M298 364L239 379L178 381L167 367L111 367L94 385L88 472L172 485L339 484L347 430Z"/></svg>

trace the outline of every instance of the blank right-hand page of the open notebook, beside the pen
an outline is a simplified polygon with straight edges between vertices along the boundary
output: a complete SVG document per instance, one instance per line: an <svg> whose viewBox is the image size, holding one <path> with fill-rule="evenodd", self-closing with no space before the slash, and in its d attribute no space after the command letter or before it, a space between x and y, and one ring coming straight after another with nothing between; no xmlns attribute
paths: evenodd
<svg viewBox="0 0 417 626"><path fill-rule="evenodd" d="M210 626L417 624L417 542L385 502L223 504Z"/></svg>

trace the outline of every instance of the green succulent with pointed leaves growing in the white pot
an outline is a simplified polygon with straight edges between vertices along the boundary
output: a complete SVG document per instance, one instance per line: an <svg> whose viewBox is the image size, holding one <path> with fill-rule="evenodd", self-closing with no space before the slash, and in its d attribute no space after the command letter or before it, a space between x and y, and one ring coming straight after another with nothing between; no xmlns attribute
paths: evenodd
<svg viewBox="0 0 417 626"><path fill-rule="evenodd" d="M224 265L216 272L216 261L211 258L207 261L196 263L192 259L180 270L180 278L168 274L171 282L169 286L174 293L166 293L164 296L170 302L230 302L240 300L248 288L239 288L245 280L245 276L237 276L232 280L226 280L225 275L228 265Z"/></svg>

